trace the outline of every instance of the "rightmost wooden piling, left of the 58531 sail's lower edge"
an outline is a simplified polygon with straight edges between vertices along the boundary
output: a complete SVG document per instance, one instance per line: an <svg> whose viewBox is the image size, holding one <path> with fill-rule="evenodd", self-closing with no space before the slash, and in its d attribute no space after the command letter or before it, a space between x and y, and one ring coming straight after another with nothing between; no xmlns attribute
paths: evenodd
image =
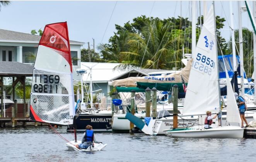
<svg viewBox="0 0 256 162"><path fill-rule="evenodd" d="M173 128L178 127L178 92L179 92L179 87L177 84L175 84L172 87Z"/></svg>

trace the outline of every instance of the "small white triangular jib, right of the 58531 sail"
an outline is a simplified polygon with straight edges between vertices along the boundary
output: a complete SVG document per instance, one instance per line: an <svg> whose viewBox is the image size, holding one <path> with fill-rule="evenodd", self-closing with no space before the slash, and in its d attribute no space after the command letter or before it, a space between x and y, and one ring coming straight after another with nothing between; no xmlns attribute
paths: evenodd
<svg viewBox="0 0 256 162"><path fill-rule="evenodd" d="M224 62L225 72L226 72L226 82L227 82L227 121L229 123L241 123L241 118L239 115L238 107L236 104L236 98L232 89L231 82L229 80L229 74Z"/></svg>

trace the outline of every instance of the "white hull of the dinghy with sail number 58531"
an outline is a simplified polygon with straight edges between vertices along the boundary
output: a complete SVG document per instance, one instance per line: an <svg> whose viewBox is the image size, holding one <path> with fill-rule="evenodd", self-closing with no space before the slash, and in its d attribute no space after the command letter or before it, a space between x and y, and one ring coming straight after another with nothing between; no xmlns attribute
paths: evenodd
<svg viewBox="0 0 256 162"><path fill-rule="evenodd" d="M244 129L239 126L224 126L211 129L167 130L166 135L181 138L243 138Z"/></svg>

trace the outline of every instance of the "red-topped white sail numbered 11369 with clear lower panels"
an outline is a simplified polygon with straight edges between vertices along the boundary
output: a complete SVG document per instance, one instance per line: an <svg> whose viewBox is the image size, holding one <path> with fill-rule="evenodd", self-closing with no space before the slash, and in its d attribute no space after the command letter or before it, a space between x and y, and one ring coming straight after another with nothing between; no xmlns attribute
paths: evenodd
<svg viewBox="0 0 256 162"><path fill-rule="evenodd" d="M67 22L48 24L34 64L30 117L38 122L70 125L74 105Z"/></svg>

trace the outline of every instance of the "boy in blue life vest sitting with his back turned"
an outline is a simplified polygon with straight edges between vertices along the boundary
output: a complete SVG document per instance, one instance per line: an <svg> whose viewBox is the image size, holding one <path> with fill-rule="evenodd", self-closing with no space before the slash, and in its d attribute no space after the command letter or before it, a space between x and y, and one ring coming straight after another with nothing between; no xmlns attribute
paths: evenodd
<svg viewBox="0 0 256 162"><path fill-rule="evenodd" d="M84 132L84 134L82 136L82 143L75 145L75 147L77 147L79 149L87 149L91 145L93 147L93 145L94 145L93 142L96 142L96 139L94 137L94 131L92 130L92 126L91 125L87 125L85 127L85 129L86 130L85 130L85 132Z"/></svg>

